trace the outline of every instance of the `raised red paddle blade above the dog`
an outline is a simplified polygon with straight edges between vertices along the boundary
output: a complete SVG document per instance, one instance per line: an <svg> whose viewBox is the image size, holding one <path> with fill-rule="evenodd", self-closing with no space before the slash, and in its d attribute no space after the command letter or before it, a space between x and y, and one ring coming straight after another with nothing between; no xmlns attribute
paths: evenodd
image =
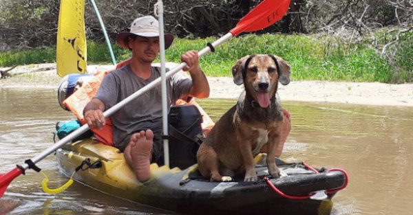
<svg viewBox="0 0 413 215"><path fill-rule="evenodd" d="M286 14L289 6L290 0L264 0L229 32L235 36L241 32L262 30L279 21Z"/></svg>

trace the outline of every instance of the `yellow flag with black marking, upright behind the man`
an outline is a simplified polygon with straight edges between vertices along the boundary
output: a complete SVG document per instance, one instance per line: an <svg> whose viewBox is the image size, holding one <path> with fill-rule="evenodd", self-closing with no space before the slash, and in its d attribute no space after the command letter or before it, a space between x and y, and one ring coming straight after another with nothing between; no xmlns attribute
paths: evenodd
<svg viewBox="0 0 413 215"><path fill-rule="evenodd" d="M86 73L85 0L61 0L56 44L56 70L61 77Z"/></svg>

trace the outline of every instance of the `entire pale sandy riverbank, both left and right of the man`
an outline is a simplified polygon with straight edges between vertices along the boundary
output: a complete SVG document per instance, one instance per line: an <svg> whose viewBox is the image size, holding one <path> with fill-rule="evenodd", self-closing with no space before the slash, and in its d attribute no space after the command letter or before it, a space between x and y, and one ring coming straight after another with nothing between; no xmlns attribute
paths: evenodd
<svg viewBox="0 0 413 215"><path fill-rule="evenodd" d="M110 69L112 66L91 65L88 71ZM0 68L4 70L8 68ZM56 89L60 77L56 75L54 64L17 67L17 74L0 79L0 88L47 88ZM238 98L241 86L233 83L232 78L209 77L210 98ZM283 101L334 102L345 104L368 104L385 106L413 106L413 84L383 84L379 82L326 82L291 81L279 86Z"/></svg>

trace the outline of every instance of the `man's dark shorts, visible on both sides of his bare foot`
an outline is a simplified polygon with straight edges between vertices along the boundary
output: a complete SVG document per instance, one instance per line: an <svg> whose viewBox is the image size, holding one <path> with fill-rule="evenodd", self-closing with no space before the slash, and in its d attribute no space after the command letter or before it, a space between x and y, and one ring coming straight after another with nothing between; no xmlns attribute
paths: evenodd
<svg viewBox="0 0 413 215"><path fill-rule="evenodd" d="M153 132L151 163L158 163L158 165L162 166L164 164L162 128L152 128L151 131ZM115 147L119 148L120 152L125 151L125 148L127 144L129 144L130 139L131 135L128 135L125 139L123 139L123 141L115 144Z"/></svg>

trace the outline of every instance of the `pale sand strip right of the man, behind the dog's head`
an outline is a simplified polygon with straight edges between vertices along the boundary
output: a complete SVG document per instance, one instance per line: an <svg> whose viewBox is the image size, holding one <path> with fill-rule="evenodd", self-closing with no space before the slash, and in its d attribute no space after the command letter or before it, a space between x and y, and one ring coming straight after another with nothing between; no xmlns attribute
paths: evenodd
<svg viewBox="0 0 413 215"><path fill-rule="evenodd" d="M237 98L242 91L232 78L210 78L210 84L211 98ZM282 101L413 106L413 84L292 81L278 92Z"/></svg>

